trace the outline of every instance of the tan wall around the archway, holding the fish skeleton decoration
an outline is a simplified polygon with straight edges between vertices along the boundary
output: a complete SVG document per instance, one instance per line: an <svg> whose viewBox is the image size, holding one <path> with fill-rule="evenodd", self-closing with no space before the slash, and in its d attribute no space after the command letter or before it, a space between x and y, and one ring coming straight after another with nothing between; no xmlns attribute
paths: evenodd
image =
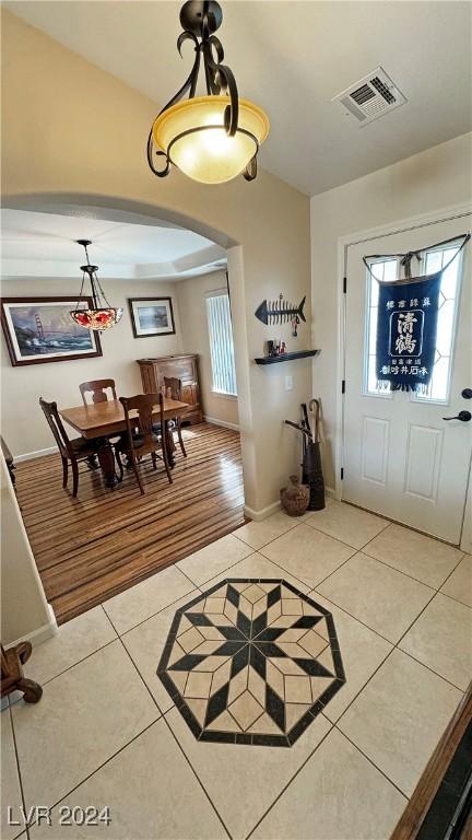
<svg viewBox="0 0 472 840"><path fill-rule="evenodd" d="M264 171L252 184L238 178L219 187L178 172L153 177L145 160L157 110L151 100L9 12L2 36L4 206L25 207L28 197L37 206L54 196L132 207L174 219L223 247L241 246L243 253L229 252L229 275L245 493L249 509L266 509L297 464L295 435L283 420L297 417L309 396L311 365L290 364L290 393L283 390L285 365L256 366L250 360L261 354L270 329L253 312L281 291L294 301L309 295L309 199ZM84 129L84 120L93 130ZM298 347L310 342L309 306L307 316Z"/></svg>

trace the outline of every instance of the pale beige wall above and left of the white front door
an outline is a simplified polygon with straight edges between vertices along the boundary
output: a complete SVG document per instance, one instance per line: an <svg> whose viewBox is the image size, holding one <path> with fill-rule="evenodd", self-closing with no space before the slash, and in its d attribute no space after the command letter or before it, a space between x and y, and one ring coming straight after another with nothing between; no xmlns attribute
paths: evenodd
<svg viewBox="0 0 472 840"><path fill-rule="evenodd" d="M314 343L322 349L314 365L314 393L323 402L328 454L341 434L337 428L341 388L337 376L338 238L470 200L471 137L455 138L311 198ZM334 486L330 456L326 479Z"/></svg>

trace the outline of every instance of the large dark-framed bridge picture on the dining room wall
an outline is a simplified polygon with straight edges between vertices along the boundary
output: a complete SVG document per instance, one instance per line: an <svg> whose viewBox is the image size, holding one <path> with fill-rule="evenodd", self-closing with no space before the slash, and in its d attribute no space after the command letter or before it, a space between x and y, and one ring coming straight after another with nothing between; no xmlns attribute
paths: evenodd
<svg viewBox="0 0 472 840"><path fill-rule="evenodd" d="M102 355L99 336L71 318L92 298L2 298L1 322L14 368Z"/></svg>

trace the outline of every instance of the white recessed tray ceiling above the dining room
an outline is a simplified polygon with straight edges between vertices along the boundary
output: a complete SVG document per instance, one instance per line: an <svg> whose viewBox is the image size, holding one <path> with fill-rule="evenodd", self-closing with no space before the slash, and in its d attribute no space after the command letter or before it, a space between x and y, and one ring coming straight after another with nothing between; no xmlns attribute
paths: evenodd
<svg viewBox="0 0 472 840"><path fill-rule="evenodd" d="M180 280L216 270L226 253L197 233L167 222L129 224L96 218L2 210L1 273L4 278L81 277L84 249L76 240L91 240L90 260L99 277L122 280ZM215 265L217 264L217 265Z"/></svg>

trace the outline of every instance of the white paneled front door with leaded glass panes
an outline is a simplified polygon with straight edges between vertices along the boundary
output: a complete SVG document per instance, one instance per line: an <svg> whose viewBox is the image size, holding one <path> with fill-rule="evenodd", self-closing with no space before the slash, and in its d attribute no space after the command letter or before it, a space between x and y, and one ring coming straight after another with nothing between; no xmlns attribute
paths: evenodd
<svg viewBox="0 0 472 840"><path fill-rule="evenodd" d="M469 243L442 275L436 361L427 396L380 392L375 373L378 282L369 254L427 248L412 276L430 275L457 250L432 243L467 233L470 215L369 240L347 249L342 497L362 508L459 544L470 471L472 422L445 420L472 411ZM400 277L399 259L371 265L376 277Z"/></svg>

